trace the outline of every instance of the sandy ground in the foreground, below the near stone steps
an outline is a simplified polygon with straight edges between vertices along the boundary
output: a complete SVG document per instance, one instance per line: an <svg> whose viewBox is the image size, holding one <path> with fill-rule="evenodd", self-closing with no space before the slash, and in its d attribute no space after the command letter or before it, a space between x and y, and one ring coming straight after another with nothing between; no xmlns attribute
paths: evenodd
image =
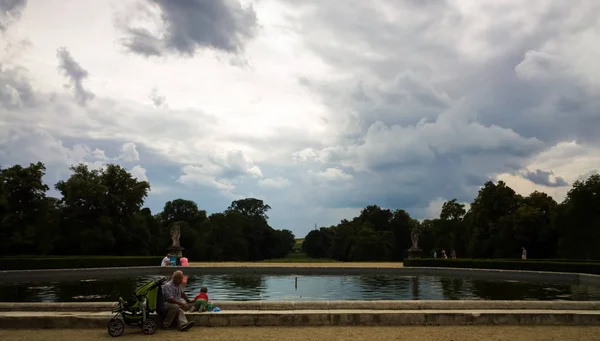
<svg viewBox="0 0 600 341"><path fill-rule="evenodd" d="M185 333L158 330L155 335L143 335L129 327L123 340L227 340L227 341L564 341L600 340L600 327L520 327L520 326L467 326L467 327L238 327L194 328ZM119 339L121 339L119 338ZM0 340L7 341L60 341L60 340L115 340L106 330L0 330Z"/></svg>

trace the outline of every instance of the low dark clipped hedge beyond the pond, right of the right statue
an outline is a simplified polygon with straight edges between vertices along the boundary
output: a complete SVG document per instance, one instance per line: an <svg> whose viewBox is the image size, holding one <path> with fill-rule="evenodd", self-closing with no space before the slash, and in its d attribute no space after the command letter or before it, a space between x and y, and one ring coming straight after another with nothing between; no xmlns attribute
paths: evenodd
<svg viewBox="0 0 600 341"><path fill-rule="evenodd" d="M600 262L507 259L405 259L404 266L530 270L600 274Z"/></svg>

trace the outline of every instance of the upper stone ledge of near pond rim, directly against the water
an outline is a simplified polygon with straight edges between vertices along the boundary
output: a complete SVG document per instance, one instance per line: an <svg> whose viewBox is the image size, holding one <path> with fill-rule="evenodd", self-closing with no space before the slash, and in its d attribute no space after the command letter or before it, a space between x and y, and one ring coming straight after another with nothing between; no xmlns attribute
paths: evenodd
<svg viewBox="0 0 600 341"><path fill-rule="evenodd" d="M600 301L217 301L223 310L600 310ZM0 311L110 312L116 302L0 303Z"/></svg>

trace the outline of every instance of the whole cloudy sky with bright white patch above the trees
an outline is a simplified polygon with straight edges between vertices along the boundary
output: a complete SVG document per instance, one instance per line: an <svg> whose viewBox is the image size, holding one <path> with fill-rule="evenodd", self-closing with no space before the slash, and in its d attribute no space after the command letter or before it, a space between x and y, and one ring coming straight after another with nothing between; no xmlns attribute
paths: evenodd
<svg viewBox="0 0 600 341"><path fill-rule="evenodd" d="M117 163L298 237L600 169L597 0L0 0L0 166ZM52 189L49 195L57 196Z"/></svg>

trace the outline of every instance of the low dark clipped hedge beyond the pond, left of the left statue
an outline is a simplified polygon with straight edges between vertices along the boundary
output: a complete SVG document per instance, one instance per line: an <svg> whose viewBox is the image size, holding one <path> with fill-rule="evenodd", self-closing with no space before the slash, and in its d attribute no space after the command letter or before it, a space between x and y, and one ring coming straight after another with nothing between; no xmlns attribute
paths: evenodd
<svg viewBox="0 0 600 341"><path fill-rule="evenodd" d="M160 266L164 256L49 256L2 257L0 270L111 268Z"/></svg>

